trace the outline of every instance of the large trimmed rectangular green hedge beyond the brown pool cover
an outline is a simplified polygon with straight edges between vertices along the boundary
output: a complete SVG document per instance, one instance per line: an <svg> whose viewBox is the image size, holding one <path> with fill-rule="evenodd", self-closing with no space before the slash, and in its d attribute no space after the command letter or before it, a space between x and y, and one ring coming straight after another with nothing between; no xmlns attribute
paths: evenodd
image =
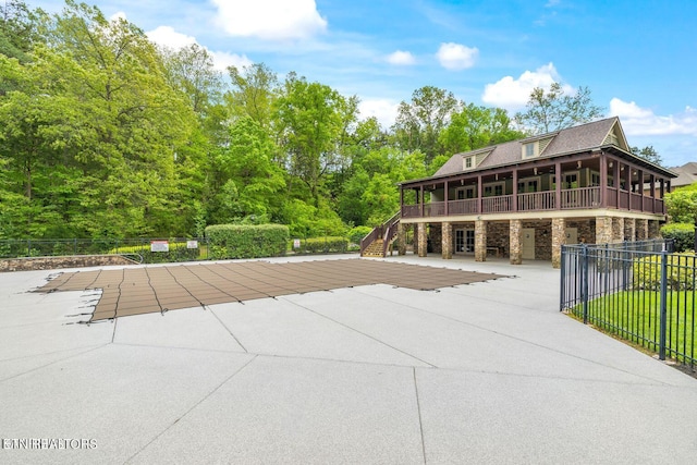
<svg viewBox="0 0 697 465"><path fill-rule="evenodd" d="M289 229L282 224L213 224L206 228L210 258L260 258L285 255Z"/></svg>

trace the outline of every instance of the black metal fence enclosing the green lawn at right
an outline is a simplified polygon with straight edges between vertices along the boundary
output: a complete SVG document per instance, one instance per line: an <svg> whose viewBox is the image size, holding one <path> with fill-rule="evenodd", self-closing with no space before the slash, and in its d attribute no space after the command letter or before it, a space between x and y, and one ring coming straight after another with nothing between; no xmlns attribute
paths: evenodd
<svg viewBox="0 0 697 465"><path fill-rule="evenodd" d="M697 257L672 245L562 246L560 309L694 369Z"/></svg>

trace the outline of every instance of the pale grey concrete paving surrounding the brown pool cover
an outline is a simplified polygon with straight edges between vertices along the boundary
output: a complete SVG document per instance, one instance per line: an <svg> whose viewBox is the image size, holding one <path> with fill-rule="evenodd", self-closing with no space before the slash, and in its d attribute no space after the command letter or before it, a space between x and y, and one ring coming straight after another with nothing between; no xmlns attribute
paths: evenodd
<svg viewBox="0 0 697 465"><path fill-rule="evenodd" d="M94 292L0 274L0 463L695 462L697 380L560 314L548 262L388 260L516 277L85 326Z"/></svg>

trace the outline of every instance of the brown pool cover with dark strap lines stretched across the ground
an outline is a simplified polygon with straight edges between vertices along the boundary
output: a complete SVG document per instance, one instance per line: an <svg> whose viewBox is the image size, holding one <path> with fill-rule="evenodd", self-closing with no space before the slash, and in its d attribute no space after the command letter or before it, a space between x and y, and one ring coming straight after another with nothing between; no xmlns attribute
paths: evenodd
<svg viewBox="0 0 697 465"><path fill-rule="evenodd" d="M503 278L365 259L170 265L61 273L36 292L100 289L89 321L369 284L435 290Z"/></svg>

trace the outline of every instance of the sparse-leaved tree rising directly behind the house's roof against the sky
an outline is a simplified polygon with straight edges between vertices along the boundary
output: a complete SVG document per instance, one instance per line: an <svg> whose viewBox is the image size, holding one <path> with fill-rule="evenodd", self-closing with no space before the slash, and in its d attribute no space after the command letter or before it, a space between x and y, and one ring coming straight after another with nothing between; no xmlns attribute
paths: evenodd
<svg viewBox="0 0 697 465"><path fill-rule="evenodd" d="M603 113L603 108L592 102L588 87L578 87L568 95L561 84L552 83L547 91L533 89L526 110L516 113L515 121L534 134L545 134L588 123Z"/></svg>

